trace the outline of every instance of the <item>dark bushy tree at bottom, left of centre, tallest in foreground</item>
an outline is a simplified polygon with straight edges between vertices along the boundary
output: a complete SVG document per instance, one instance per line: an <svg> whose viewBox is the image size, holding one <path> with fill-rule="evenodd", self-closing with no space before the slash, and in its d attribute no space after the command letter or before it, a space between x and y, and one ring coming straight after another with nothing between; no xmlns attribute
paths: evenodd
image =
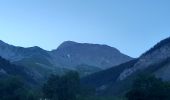
<svg viewBox="0 0 170 100"><path fill-rule="evenodd" d="M51 100L76 100L80 86L77 72L68 72L63 76L51 75L43 86L44 98Z"/></svg>

